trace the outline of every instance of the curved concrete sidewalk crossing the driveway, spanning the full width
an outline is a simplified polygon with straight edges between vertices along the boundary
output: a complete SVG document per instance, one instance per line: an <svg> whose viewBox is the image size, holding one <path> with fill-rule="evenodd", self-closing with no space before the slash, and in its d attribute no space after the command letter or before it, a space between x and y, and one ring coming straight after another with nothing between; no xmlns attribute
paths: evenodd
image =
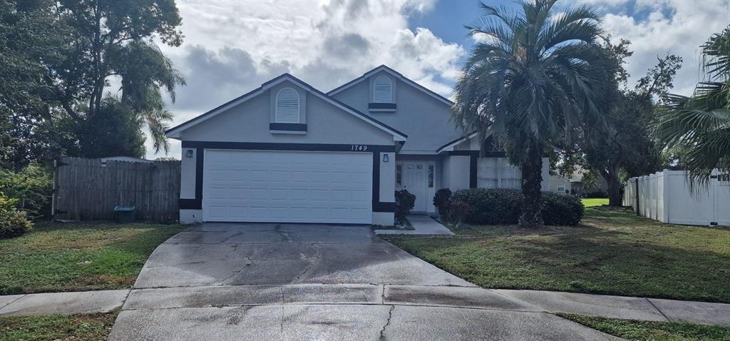
<svg viewBox="0 0 730 341"><path fill-rule="evenodd" d="M162 299L162 298L165 299ZM461 286L193 286L0 296L1 315L104 313L188 307L366 304L570 313L730 326L730 304Z"/></svg>

